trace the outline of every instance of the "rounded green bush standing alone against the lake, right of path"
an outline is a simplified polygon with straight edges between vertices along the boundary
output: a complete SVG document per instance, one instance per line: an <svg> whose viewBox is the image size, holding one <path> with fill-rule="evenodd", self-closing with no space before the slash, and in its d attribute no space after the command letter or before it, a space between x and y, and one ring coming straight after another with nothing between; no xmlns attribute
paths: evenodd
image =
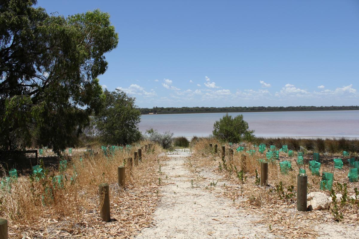
<svg viewBox="0 0 359 239"><path fill-rule="evenodd" d="M228 140L238 143L243 140L251 141L254 138L253 130L248 130L248 123L243 115L232 118L228 113L213 125L213 135L219 140Z"/></svg>

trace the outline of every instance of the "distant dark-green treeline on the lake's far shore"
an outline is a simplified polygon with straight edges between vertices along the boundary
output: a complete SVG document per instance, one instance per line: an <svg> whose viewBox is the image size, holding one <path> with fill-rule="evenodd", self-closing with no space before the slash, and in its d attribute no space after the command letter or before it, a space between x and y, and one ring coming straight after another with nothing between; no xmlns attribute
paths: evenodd
<svg viewBox="0 0 359 239"><path fill-rule="evenodd" d="M153 107L140 108L141 114L188 114L188 113L225 113L261 111L315 111L315 110L359 110L359 106L253 106L253 107Z"/></svg>

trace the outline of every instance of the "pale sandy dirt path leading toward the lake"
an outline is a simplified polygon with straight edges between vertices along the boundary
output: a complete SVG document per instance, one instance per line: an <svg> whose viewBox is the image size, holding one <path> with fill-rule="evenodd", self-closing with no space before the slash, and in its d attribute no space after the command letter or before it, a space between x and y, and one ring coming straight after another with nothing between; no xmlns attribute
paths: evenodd
<svg viewBox="0 0 359 239"><path fill-rule="evenodd" d="M136 237L148 238L272 238L267 229L253 226L257 218L235 209L232 201L216 197L210 182L218 182L213 190L227 182L220 176L205 172L200 180L183 165L187 152L169 155L161 171L166 176L161 187L162 195L154 213L153 228L145 228ZM191 183L193 181L193 184Z"/></svg>

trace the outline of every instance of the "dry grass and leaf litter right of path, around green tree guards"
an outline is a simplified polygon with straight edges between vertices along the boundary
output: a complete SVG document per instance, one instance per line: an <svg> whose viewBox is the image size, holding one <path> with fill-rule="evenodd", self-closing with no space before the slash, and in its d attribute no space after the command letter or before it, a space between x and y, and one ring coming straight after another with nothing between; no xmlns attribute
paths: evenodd
<svg viewBox="0 0 359 239"><path fill-rule="evenodd" d="M209 148L209 143L218 144L218 153L215 154L213 149ZM322 142L320 142L322 143ZM291 196L290 188L293 186L293 192L297 191L297 174L299 168L295 163L297 156L288 157L288 154L281 152L280 161L289 160L292 161L293 171L289 171L288 174L280 173L279 161L269 163L268 165L268 187L260 187L256 184L256 170L258 177L261 174L261 166L258 159L265 159L265 153L261 154L256 152L253 156L244 152L236 152L238 145L233 145L234 157L230 159L228 152L226 152L225 163L221 159L220 142L216 142L215 139L202 139L196 143L194 147L194 154L187 162L187 165L194 171L199 171L198 168L214 169L215 173L224 176L225 180L230 181L236 186L226 186L223 195L236 201L244 199L244 203L235 204L237 207L247 210L248 212L254 212L262 216L262 219L253 223L267 225L271 231L277 236L283 236L285 238L316 238L317 231L314 230L314 226L322 223L340 225L340 224L353 224L359 225L358 212L359 201L353 201L347 203L345 206L340 207L339 211L342 212L344 218L340 223L334 220L334 216L330 210L320 210L311 212L298 212L296 196ZM245 145L245 144L243 144ZM226 149L231 146L225 145ZM246 145L245 150L253 149L250 144ZM268 146L267 146L268 147ZM290 148L289 148L290 149ZM227 151L227 150L226 150ZM258 151L258 148L257 150ZM304 163L308 175L308 192L320 191L321 177L312 176L308 168L308 161L312 160L311 155L304 154ZM324 170L330 172L333 169L333 158L335 154L330 157L321 157L322 167L321 172ZM346 183L348 185L349 195L354 195L354 188L358 187L358 182L348 181L348 163L343 159L343 169L334 169L334 181L333 189L337 191L335 184ZM243 169L243 182L238 177L237 171ZM222 168L222 170L220 169ZM283 192L278 192L277 187L283 185ZM238 185L240 185L238 187ZM323 191L328 196L329 191ZM284 193L284 195L283 195ZM337 191L336 193L339 193ZM340 192L341 193L341 192ZM287 196L285 196L287 195Z"/></svg>

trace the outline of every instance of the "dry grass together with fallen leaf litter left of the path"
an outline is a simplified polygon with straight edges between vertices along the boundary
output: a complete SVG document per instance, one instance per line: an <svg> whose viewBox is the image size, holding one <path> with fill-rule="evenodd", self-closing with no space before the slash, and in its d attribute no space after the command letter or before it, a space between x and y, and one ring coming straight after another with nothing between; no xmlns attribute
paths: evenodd
<svg viewBox="0 0 359 239"><path fill-rule="evenodd" d="M125 190L117 185L117 167L123 159L133 157L139 147L108 158L101 149L96 156L73 155L62 173L63 187L52 183L59 171L47 172L39 181L20 176L11 183L11 190L0 191L0 213L9 221L9 238L128 238L150 226L150 215L158 201L162 148L155 145L151 153L143 148L141 162L134 162L132 170L125 165ZM104 182L110 185L109 223L99 218L98 185Z"/></svg>

